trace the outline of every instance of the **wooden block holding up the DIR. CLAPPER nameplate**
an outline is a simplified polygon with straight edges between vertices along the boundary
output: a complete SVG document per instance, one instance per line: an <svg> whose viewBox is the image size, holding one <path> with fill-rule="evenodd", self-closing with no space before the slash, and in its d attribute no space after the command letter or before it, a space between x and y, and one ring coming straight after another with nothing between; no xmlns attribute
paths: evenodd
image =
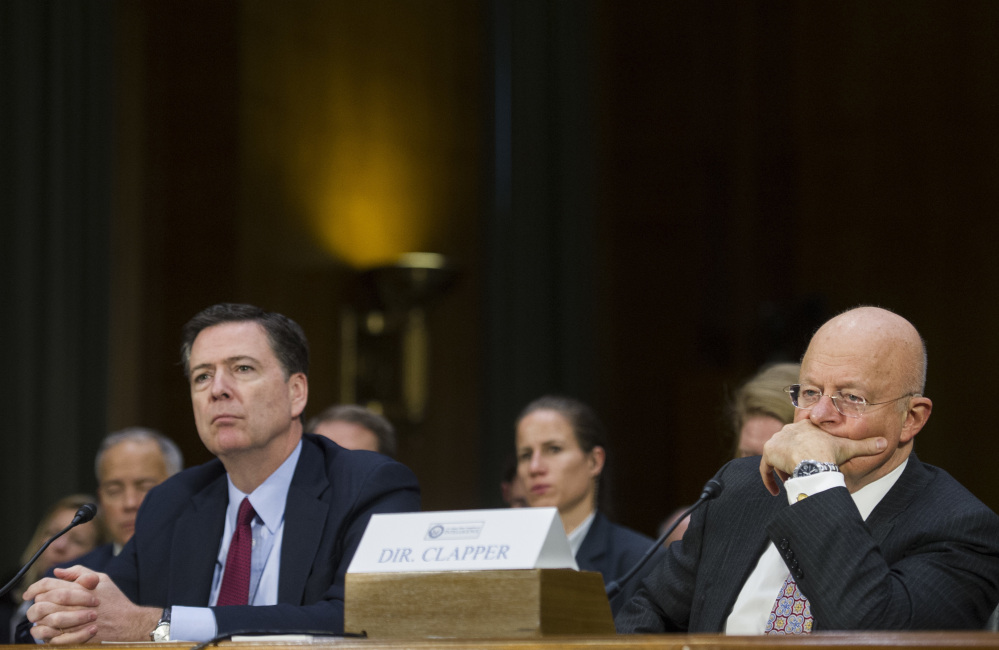
<svg viewBox="0 0 999 650"><path fill-rule="evenodd" d="M594 571L348 573L344 630L370 638L614 634Z"/></svg>

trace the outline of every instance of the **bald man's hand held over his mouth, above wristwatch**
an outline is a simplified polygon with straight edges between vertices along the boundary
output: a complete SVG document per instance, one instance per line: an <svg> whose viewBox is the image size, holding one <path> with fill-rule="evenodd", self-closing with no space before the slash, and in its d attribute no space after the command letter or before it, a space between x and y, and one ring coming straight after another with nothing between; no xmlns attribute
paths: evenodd
<svg viewBox="0 0 999 650"><path fill-rule="evenodd" d="M885 438L853 440L824 431L811 420L799 420L786 425L763 445L760 475L770 494L776 496L780 487L775 471L781 481L786 481L803 460L842 465L858 456L876 456L887 446Z"/></svg>

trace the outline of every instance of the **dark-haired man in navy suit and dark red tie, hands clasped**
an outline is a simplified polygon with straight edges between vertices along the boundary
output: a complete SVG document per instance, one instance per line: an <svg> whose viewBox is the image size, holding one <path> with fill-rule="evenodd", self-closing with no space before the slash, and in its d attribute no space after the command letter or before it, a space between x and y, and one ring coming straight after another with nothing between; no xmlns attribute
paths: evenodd
<svg viewBox="0 0 999 650"><path fill-rule="evenodd" d="M217 459L150 491L106 574L73 567L32 585L32 635L342 633L344 576L368 519L418 510L415 477L303 434L308 344L287 317L215 305L185 326L181 352L198 434Z"/></svg>

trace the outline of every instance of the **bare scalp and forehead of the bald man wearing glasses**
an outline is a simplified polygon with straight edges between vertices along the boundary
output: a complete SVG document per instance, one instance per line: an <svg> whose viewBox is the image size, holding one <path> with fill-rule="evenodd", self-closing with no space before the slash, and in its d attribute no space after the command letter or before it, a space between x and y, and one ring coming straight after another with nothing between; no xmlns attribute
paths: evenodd
<svg viewBox="0 0 999 650"><path fill-rule="evenodd" d="M912 323L887 309L857 307L832 318L812 337L804 359L816 350L833 358L866 358L868 367L890 384L885 388L899 394L925 390L923 339Z"/></svg>

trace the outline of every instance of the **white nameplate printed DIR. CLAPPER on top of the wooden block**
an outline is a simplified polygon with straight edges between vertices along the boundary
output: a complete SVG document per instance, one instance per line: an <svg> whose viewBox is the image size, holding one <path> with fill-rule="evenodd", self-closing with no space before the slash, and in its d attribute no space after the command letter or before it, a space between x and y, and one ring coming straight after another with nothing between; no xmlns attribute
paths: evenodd
<svg viewBox="0 0 999 650"><path fill-rule="evenodd" d="M347 573L576 569L556 508L372 515Z"/></svg>

